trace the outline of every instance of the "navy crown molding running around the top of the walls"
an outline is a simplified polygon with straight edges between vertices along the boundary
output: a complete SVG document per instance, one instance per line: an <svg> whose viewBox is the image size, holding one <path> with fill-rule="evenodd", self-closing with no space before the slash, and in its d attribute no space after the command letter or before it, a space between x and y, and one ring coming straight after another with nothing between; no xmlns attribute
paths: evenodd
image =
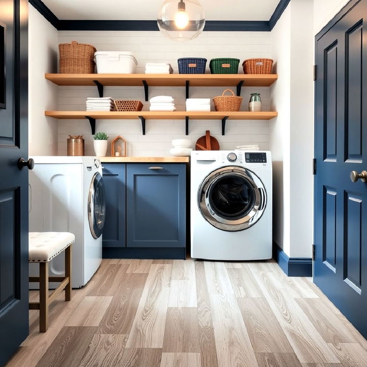
<svg viewBox="0 0 367 367"><path fill-rule="evenodd" d="M58 31L159 31L156 20L62 20L41 0L29 0ZM290 0L280 0L269 21L207 20L204 31L269 32L280 18Z"/></svg>

